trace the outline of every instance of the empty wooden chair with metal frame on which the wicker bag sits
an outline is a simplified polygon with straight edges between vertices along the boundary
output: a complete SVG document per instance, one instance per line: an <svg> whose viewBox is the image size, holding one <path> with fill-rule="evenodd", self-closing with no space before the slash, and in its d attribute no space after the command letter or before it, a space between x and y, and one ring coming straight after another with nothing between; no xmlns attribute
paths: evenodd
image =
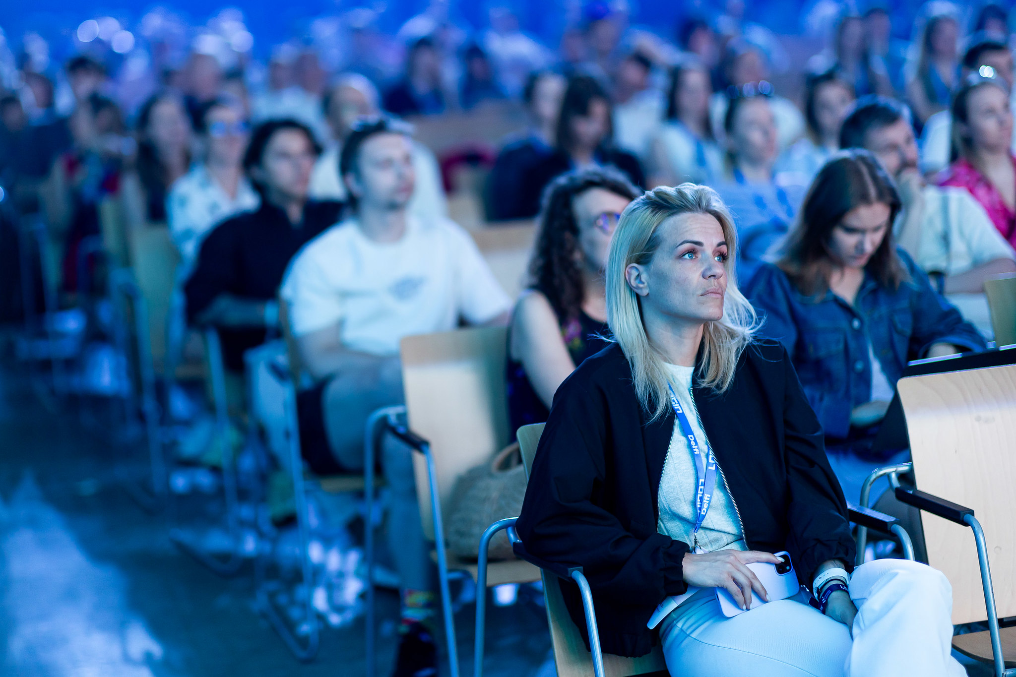
<svg viewBox="0 0 1016 677"><path fill-rule="evenodd" d="M424 533L436 544L452 677L458 677L459 668L448 572L464 570L479 580L482 567L446 551L441 515L458 478L509 441L506 345L504 328L409 336L400 344L408 427L389 419L388 432L419 452L414 456L417 494ZM525 561L494 562L489 568L477 594L478 613L482 613L487 586L539 580L539 570Z"/></svg>

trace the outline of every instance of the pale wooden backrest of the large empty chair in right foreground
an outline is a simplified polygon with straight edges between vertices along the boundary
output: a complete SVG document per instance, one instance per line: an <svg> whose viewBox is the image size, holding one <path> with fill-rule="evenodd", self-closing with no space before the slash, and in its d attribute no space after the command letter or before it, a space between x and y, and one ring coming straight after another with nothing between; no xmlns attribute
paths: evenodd
<svg viewBox="0 0 1016 677"><path fill-rule="evenodd" d="M1016 364L900 379L917 488L972 507L999 617L1016 616ZM988 618L970 530L922 515L928 561L949 579L953 623Z"/></svg>

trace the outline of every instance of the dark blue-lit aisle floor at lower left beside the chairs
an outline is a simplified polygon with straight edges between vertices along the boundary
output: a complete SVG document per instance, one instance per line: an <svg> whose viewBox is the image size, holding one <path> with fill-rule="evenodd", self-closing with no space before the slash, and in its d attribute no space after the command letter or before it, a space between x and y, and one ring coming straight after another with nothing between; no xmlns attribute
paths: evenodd
<svg viewBox="0 0 1016 677"><path fill-rule="evenodd" d="M76 407L53 409L19 367L0 366L0 674L364 674L362 619L324 630L316 660L297 662L253 606L251 568L223 579L176 549L166 517L141 511L114 475L127 450L83 425ZM396 610L394 594L380 594L382 677ZM472 622L468 604L456 618L463 675ZM491 608L488 627L487 674L532 675L546 662L546 618L532 602Z"/></svg>

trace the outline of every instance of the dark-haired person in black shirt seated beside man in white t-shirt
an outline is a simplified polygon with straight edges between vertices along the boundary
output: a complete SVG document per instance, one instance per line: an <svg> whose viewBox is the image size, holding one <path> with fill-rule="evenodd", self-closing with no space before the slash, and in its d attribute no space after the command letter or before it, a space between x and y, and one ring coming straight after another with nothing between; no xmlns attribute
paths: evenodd
<svg viewBox="0 0 1016 677"><path fill-rule="evenodd" d="M340 202L308 199L320 149L293 120L262 124L251 135L244 170L261 193L261 207L227 219L201 245L184 288L187 322L221 330L227 368L244 368L244 351L278 325L275 295L290 259L338 220Z"/></svg>

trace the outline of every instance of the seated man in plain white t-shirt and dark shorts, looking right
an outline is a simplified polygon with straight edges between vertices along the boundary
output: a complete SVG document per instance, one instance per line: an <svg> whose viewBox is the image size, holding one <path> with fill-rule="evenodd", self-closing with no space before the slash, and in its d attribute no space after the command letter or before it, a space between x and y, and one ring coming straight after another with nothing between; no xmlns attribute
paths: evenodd
<svg viewBox="0 0 1016 677"><path fill-rule="evenodd" d="M412 139L400 123L361 121L339 166L353 216L294 258L281 296L302 363L320 384L323 436L339 466L360 469L367 416L402 401L399 340L449 331L460 321L507 324L511 299L464 230L445 218L409 214ZM433 640L421 622L433 602L433 568L410 456L394 442L382 451L389 544L403 586L395 674L406 675L434 667Z"/></svg>

